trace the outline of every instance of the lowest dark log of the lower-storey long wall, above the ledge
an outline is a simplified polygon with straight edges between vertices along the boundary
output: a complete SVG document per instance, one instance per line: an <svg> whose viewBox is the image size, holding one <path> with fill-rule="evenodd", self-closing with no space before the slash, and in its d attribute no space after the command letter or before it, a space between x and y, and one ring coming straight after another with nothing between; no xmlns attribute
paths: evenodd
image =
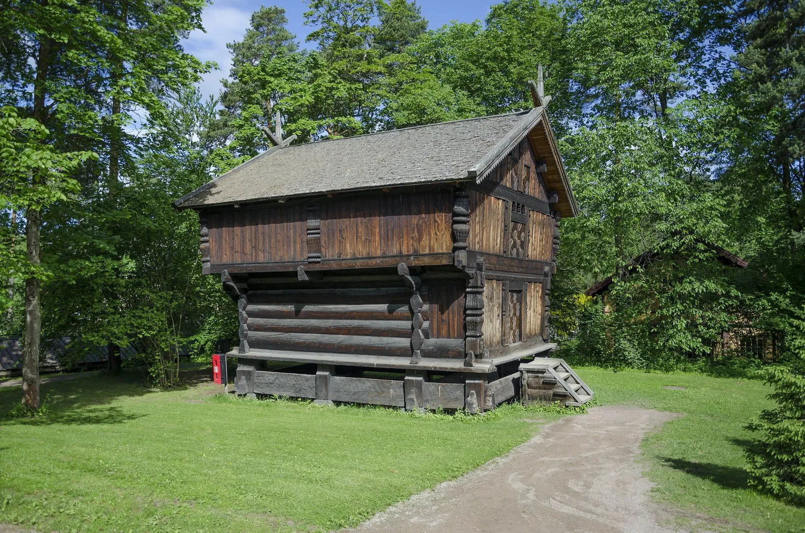
<svg viewBox="0 0 805 533"><path fill-rule="evenodd" d="M252 349L298 350L300 352L361 353L411 357L410 338L320 335L315 333L253 332ZM464 358L462 339L424 339L423 357Z"/></svg>

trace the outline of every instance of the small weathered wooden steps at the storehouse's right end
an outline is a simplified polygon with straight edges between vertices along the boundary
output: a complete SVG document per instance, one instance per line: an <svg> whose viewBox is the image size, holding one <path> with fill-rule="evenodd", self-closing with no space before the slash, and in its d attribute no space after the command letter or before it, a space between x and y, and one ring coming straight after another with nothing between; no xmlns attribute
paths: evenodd
<svg viewBox="0 0 805 533"><path fill-rule="evenodd" d="M522 403L555 403L580 407L592 399L592 389L564 359L538 357L520 365Z"/></svg>

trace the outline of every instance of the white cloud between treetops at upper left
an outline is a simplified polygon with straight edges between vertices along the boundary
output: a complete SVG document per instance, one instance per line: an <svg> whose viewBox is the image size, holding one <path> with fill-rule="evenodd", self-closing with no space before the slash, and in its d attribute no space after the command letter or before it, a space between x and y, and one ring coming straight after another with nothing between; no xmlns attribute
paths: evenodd
<svg viewBox="0 0 805 533"><path fill-rule="evenodd" d="M218 97L221 91L221 78L229 75L232 64L226 43L242 39L249 27L252 10L238 10L234 7L207 6L201 20L204 31L195 30L184 40L184 49L202 61L215 61L218 70L205 74L199 84L204 97L212 94Z"/></svg>

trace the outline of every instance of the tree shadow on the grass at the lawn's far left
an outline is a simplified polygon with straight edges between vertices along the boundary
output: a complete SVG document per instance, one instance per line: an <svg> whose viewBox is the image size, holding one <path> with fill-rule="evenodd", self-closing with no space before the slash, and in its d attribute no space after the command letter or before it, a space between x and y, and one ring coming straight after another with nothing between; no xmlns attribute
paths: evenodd
<svg viewBox="0 0 805 533"><path fill-rule="evenodd" d="M151 394L142 373L123 371L116 376L99 375L82 379L43 383L41 396L47 411L43 415L10 417L22 399L19 388L0 389L0 426L8 424L122 424L138 419L120 407L106 404L122 397ZM104 407L105 406L105 407Z"/></svg>

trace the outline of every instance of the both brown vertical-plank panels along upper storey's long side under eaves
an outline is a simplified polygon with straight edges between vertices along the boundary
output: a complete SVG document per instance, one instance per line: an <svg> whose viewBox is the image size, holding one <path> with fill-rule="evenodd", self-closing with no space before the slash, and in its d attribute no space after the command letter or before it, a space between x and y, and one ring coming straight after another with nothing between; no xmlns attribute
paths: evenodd
<svg viewBox="0 0 805 533"><path fill-rule="evenodd" d="M324 259L452 252L452 189L375 192L208 213L210 263L309 260L308 217L320 216Z"/></svg>

